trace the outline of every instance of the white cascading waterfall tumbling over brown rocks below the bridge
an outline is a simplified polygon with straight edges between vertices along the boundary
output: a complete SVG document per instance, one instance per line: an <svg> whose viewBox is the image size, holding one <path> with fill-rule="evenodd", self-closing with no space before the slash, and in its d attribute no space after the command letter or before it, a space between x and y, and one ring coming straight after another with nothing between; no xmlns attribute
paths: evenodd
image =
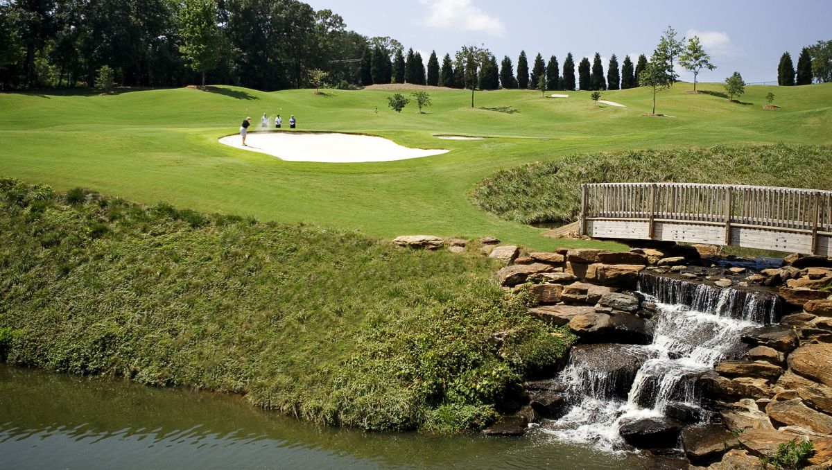
<svg viewBox="0 0 832 470"><path fill-rule="evenodd" d="M638 291L657 306L652 344L596 344L592 354L573 352L560 376L573 406L545 423L545 432L611 451L625 449L619 435L623 424L661 418L672 402L698 408L696 379L719 361L742 354L745 329L780 317L780 298L773 294L647 274L639 276ZM599 367L599 357L624 365ZM629 373L622 370L626 364ZM628 391L621 393L622 388Z"/></svg>

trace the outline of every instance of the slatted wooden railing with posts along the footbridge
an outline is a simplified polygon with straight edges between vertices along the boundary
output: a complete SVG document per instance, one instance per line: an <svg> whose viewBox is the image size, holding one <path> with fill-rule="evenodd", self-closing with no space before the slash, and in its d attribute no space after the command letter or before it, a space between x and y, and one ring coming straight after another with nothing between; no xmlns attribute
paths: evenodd
<svg viewBox="0 0 832 470"><path fill-rule="evenodd" d="M731 228L747 227L811 236L832 232L832 191L767 186L688 183L597 183L582 185L581 230L587 221L646 222L652 239L657 223L720 225L730 245ZM592 234L589 234L592 235Z"/></svg>

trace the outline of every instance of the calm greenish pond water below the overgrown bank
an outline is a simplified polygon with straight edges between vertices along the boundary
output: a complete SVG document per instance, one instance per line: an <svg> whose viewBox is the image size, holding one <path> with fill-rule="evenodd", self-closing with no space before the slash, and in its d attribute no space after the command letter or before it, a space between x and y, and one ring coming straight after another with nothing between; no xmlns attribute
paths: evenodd
<svg viewBox="0 0 832 470"><path fill-rule="evenodd" d="M430 437L319 428L242 398L0 364L0 468L636 469L532 432Z"/></svg>

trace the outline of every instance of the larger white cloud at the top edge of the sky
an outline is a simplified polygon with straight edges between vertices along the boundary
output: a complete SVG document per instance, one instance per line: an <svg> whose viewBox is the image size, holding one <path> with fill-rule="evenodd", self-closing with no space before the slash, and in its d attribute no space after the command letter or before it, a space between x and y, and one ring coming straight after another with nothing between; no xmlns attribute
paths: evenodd
<svg viewBox="0 0 832 470"><path fill-rule="evenodd" d="M506 28L498 17L475 7L472 0L419 0L428 6L425 24L437 29L485 32L502 37Z"/></svg>

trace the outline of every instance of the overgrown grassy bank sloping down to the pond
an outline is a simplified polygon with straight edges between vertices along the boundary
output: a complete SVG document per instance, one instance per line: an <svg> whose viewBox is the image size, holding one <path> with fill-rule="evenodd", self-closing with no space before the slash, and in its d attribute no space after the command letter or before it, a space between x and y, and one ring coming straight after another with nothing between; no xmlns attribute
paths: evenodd
<svg viewBox="0 0 832 470"><path fill-rule="evenodd" d="M479 428L573 340L505 298L494 268L0 179L0 359L245 393L319 423Z"/></svg>

